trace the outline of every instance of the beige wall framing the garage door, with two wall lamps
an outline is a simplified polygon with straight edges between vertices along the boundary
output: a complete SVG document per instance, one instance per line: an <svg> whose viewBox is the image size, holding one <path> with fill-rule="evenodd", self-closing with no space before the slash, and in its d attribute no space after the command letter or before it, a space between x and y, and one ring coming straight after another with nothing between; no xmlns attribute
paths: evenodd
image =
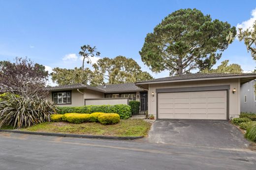
<svg viewBox="0 0 256 170"><path fill-rule="evenodd" d="M212 86L212 85L230 85L229 90L229 118L239 117L240 114L240 79L220 79L207 81L192 81L192 82L177 82L164 84L150 84L148 90L148 113L157 113L157 88L179 88L179 87L194 87L194 86ZM232 93L232 89L236 88L236 93ZM152 97L152 92L155 93Z"/></svg>

